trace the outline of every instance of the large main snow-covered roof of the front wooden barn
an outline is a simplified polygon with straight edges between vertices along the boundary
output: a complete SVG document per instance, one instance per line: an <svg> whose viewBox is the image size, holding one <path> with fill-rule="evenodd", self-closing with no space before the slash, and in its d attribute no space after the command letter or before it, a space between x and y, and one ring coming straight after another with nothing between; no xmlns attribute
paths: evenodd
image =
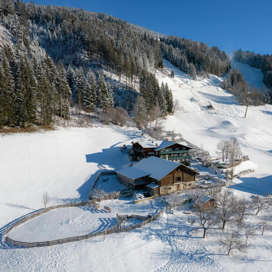
<svg viewBox="0 0 272 272"><path fill-rule="evenodd" d="M150 172L150 177L161 180L164 176L176 169L180 163L170 160L164 160L157 157L149 157L140 160L133 167Z"/></svg>

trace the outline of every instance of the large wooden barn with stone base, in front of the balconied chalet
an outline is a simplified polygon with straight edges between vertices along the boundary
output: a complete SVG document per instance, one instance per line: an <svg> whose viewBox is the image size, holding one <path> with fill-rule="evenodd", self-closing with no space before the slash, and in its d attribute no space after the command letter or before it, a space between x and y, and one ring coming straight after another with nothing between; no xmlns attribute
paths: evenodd
<svg viewBox="0 0 272 272"><path fill-rule="evenodd" d="M115 170L117 179L134 190L146 189L153 196L166 195L195 186L198 172L181 163L148 157L134 166Z"/></svg>

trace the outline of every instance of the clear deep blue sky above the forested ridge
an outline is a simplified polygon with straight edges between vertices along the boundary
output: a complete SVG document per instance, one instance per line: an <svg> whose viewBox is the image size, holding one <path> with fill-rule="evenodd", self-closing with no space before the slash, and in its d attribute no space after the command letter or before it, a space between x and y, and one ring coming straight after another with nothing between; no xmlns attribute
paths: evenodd
<svg viewBox="0 0 272 272"><path fill-rule="evenodd" d="M30 1L26 1L30 2ZM226 53L242 48L272 54L272 0L109 1L33 0L104 12L165 35L216 45Z"/></svg>

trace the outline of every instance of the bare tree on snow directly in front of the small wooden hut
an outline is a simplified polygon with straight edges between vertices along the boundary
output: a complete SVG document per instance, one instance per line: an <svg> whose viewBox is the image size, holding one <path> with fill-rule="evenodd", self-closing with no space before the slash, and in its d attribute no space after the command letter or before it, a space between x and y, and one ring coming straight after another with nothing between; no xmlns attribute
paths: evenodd
<svg viewBox="0 0 272 272"><path fill-rule="evenodd" d="M197 202L194 204L194 208L193 214L196 217L196 221L198 221L200 226L203 228L203 238L206 238L207 230L217 222L215 209L207 209L204 205L198 204Z"/></svg>

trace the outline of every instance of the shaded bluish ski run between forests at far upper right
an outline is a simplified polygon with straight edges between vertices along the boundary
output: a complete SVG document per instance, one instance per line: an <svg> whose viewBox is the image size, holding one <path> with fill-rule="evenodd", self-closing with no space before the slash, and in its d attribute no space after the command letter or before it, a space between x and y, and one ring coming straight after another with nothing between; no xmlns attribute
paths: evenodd
<svg viewBox="0 0 272 272"><path fill-rule="evenodd" d="M263 83L263 74L260 69L250 67L248 64L238 62L237 60L232 60L232 69L239 69L240 72L243 73L245 81L248 83L248 87L255 87L258 89L262 89L263 87L267 89L267 87Z"/></svg>

